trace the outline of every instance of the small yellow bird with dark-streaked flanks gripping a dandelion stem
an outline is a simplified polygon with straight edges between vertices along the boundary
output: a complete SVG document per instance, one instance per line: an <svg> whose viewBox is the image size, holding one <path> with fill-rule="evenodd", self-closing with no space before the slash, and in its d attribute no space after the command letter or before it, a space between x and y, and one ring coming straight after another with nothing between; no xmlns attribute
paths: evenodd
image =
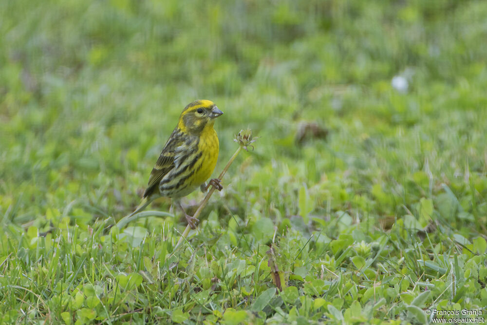
<svg viewBox="0 0 487 325"><path fill-rule="evenodd" d="M156 198L166 196L173 198L183 210L188 225L193 229L196 227L198 220L186 213L180 198L198 187L206 191L213 185L222 190L218 178L205 184L218 159L219 142L213 124L215 118L222 114L209 100L196 100L185 107L179 116L178 125L150 172L141 203L130 216L145 209Z"/></svg>

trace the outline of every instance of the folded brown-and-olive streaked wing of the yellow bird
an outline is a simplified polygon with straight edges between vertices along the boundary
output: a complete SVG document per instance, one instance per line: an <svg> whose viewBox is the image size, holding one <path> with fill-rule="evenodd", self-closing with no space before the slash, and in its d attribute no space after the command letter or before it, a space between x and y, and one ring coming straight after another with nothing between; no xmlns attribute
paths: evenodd
<svg viewBox="0 0 487 325"><path fill-rule="evenodd" d="M144 197L150 196L159 186L161 179L178 164L178 155L183 140L178 137L175 132L171 134L168 142L164 146L162 153L159 155L152 172L150 172L147 189L144 192Z"/></svg>

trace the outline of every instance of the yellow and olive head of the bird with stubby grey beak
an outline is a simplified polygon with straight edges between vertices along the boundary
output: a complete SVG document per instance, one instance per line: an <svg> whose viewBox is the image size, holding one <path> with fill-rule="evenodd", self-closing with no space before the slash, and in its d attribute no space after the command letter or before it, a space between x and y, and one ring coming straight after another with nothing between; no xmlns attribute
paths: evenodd
<svg viewBox="0 0 487 325"><path fill-rule="evenodd" d="M223 112L216 105L206 99L189 103L179 117L178 128L183 132L201 134L206 127L213 127L215 118Z"/></svg>

